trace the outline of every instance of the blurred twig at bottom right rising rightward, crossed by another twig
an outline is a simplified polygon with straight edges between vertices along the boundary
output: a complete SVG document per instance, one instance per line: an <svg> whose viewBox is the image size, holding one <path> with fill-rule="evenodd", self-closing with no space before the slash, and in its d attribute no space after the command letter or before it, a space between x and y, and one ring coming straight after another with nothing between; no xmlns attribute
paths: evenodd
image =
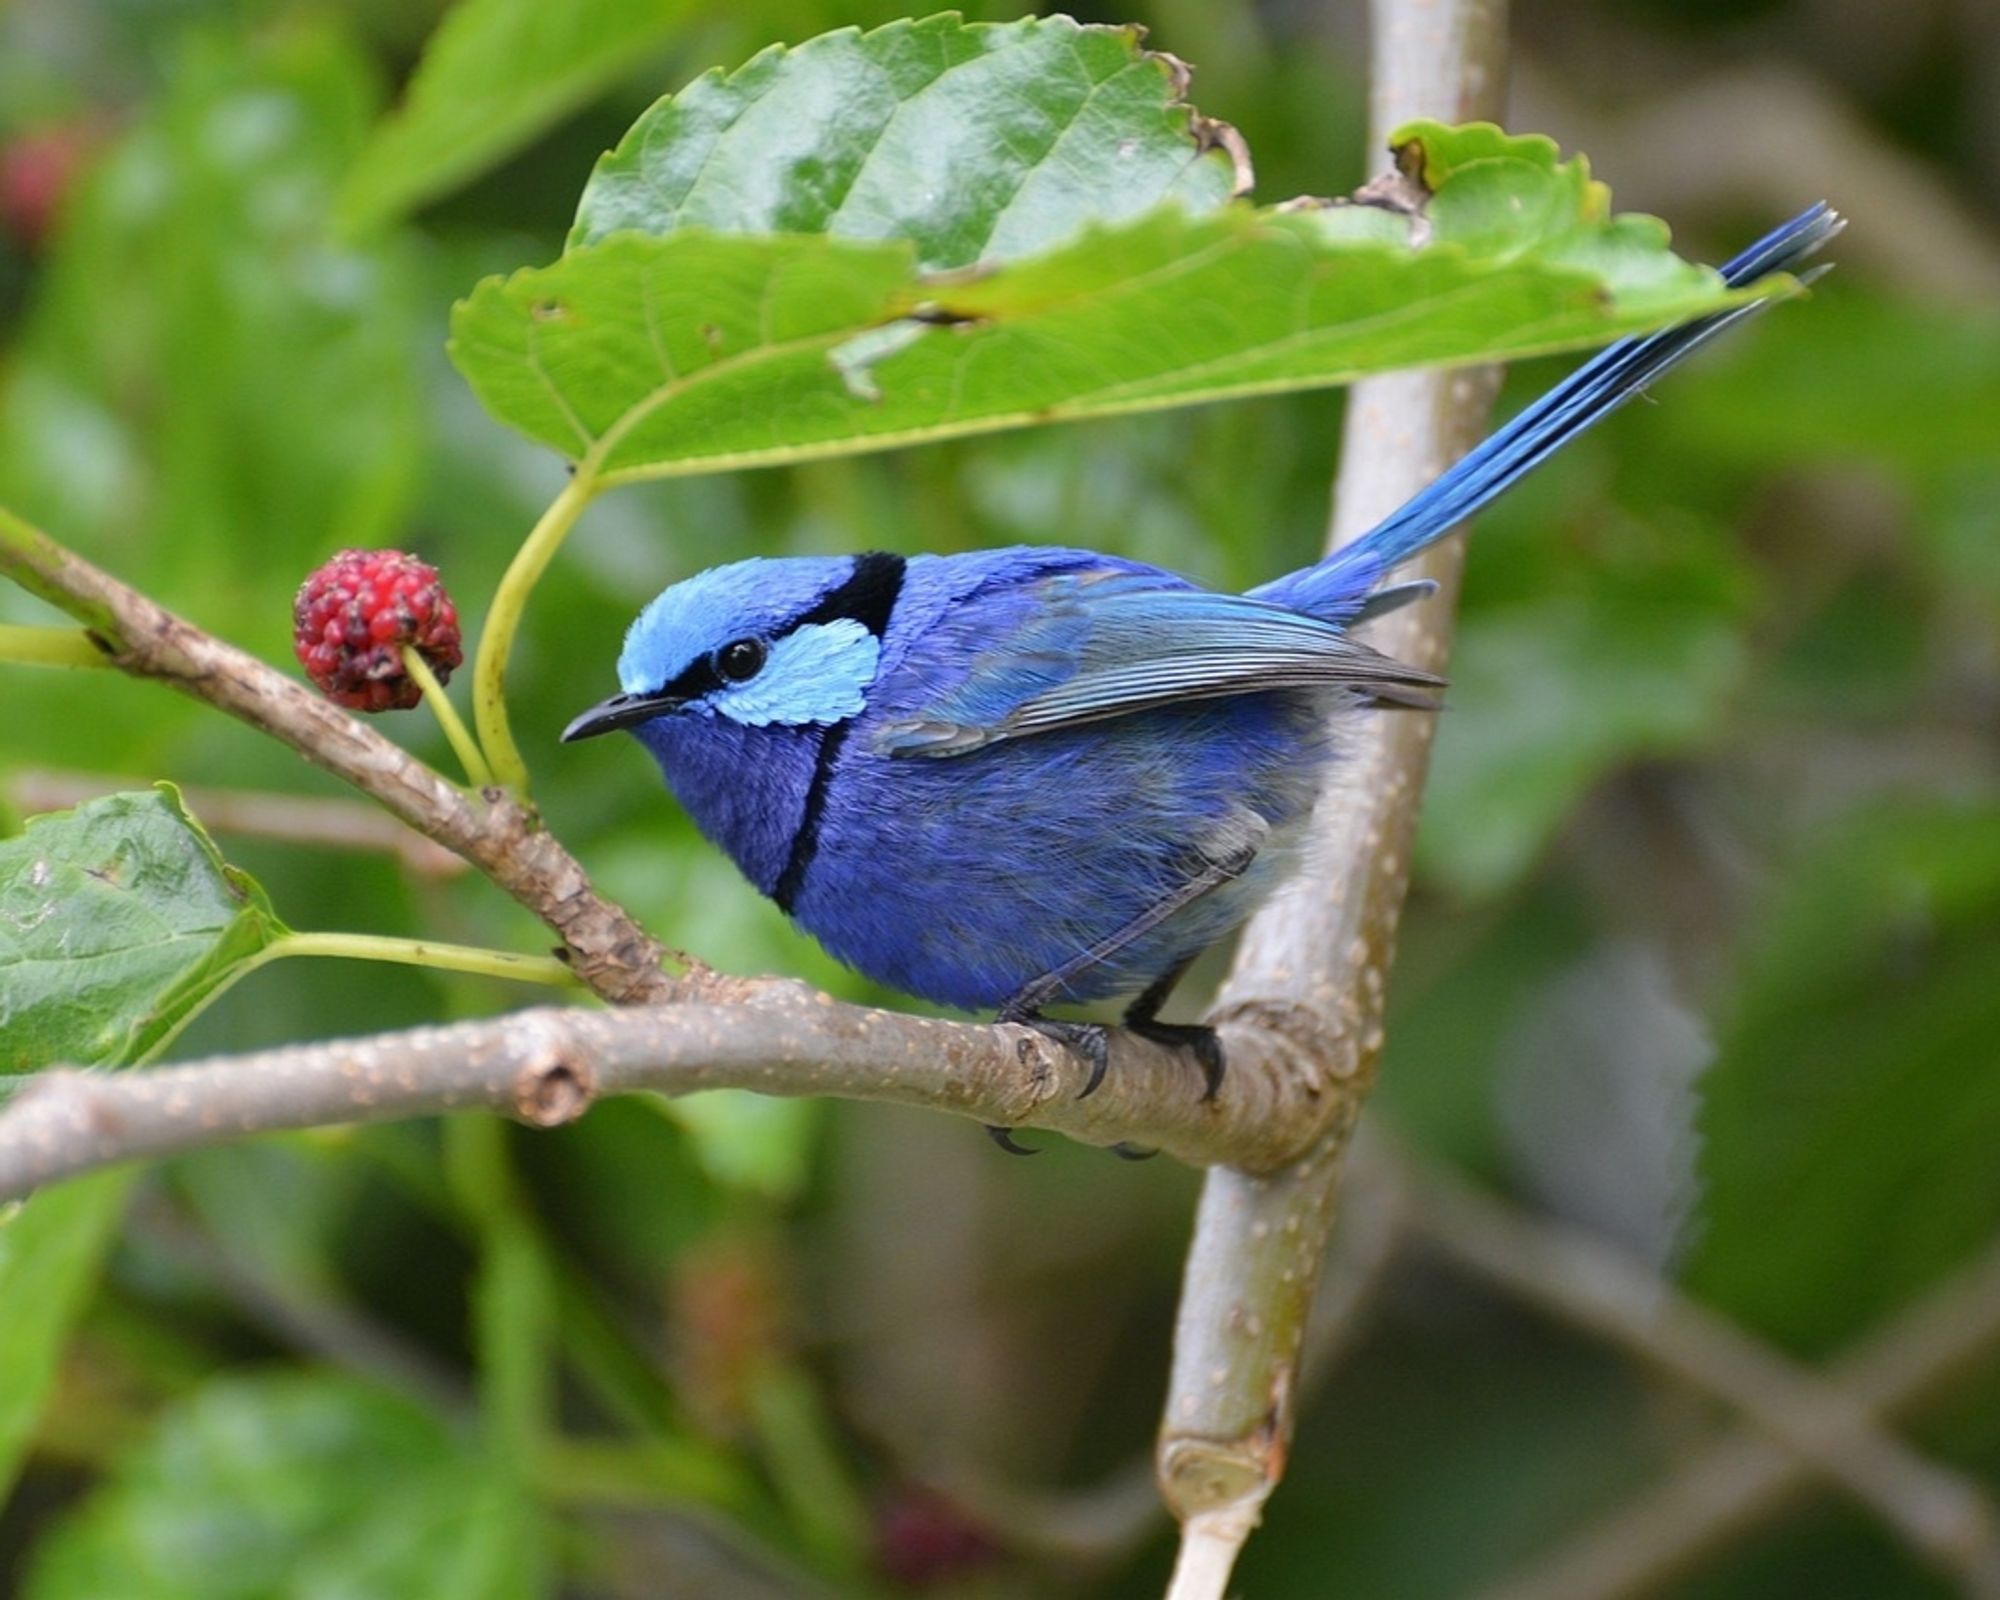
<svg viewBox="0 0 2000 1600"><path fill-rule="evenodd" d="M1826 1372L1870 1414L1920 1406L2000 1346L2000 1246L1974 1260ZM1740 1430L1480 1600L1632 1600L1684 1578L1796 1504L1812 1462L1768 1434Z"/></svg>

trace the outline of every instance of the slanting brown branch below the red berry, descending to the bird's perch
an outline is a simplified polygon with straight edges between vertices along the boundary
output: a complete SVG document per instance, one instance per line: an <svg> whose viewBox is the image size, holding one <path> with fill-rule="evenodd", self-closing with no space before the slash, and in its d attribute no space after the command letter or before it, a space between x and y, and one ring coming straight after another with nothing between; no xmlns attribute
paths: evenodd
<svg viewBox="0 0 2000 1600"><path fill-rule="evenodd" d="M592 890L576 858L504 790L470 796L454 788L304 684L204 634L4 508L0 574L82 622L120 670L156 678L290 744L464 856L556 930L576 976L606 1000L672 1000L700 988L700 970L680 984L660 970L670 952Z"/></svg>

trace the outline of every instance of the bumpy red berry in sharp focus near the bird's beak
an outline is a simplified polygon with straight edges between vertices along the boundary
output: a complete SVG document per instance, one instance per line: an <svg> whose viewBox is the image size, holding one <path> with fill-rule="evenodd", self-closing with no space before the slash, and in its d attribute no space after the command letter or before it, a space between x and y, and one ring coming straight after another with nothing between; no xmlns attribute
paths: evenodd
<svg viewBox="0 0 2000 1600"><path fill-rule="evenodd" d="M402 666L404 644L440 684L464 660L458 608L428 562L402 550L342 550L300 584L292 648L334 704L398 712L422 700L424 690Z"/></svg>

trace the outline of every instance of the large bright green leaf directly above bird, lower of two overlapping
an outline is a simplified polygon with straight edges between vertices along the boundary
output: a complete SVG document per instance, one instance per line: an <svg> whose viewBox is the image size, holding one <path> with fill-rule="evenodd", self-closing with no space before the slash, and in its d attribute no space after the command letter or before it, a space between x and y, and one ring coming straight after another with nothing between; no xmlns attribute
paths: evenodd
<svg viewBox="0 0 2000 1600"><path fill-rule="evenodd" d="M1490 144L1412 132L1460 138ZM1732 304L1656 222L1602 220L1548 140L1504 144L1446 178L1422 248L1366 206L1176 206L982 274L924 274L910 242L614 234L480 284L452 356L494 416L624 482L1560 350Z"/></svg>

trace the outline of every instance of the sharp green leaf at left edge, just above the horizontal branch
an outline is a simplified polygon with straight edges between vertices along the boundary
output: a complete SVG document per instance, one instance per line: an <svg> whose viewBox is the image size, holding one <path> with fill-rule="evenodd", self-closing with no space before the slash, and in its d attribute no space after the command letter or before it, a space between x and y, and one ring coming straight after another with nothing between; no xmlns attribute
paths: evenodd
<svg viewBox="0 0 2000 1600"><path fill-rule="evenodd" d="M128 1066L286 932L170 784L0 840L0 1072Z"/></svg>

